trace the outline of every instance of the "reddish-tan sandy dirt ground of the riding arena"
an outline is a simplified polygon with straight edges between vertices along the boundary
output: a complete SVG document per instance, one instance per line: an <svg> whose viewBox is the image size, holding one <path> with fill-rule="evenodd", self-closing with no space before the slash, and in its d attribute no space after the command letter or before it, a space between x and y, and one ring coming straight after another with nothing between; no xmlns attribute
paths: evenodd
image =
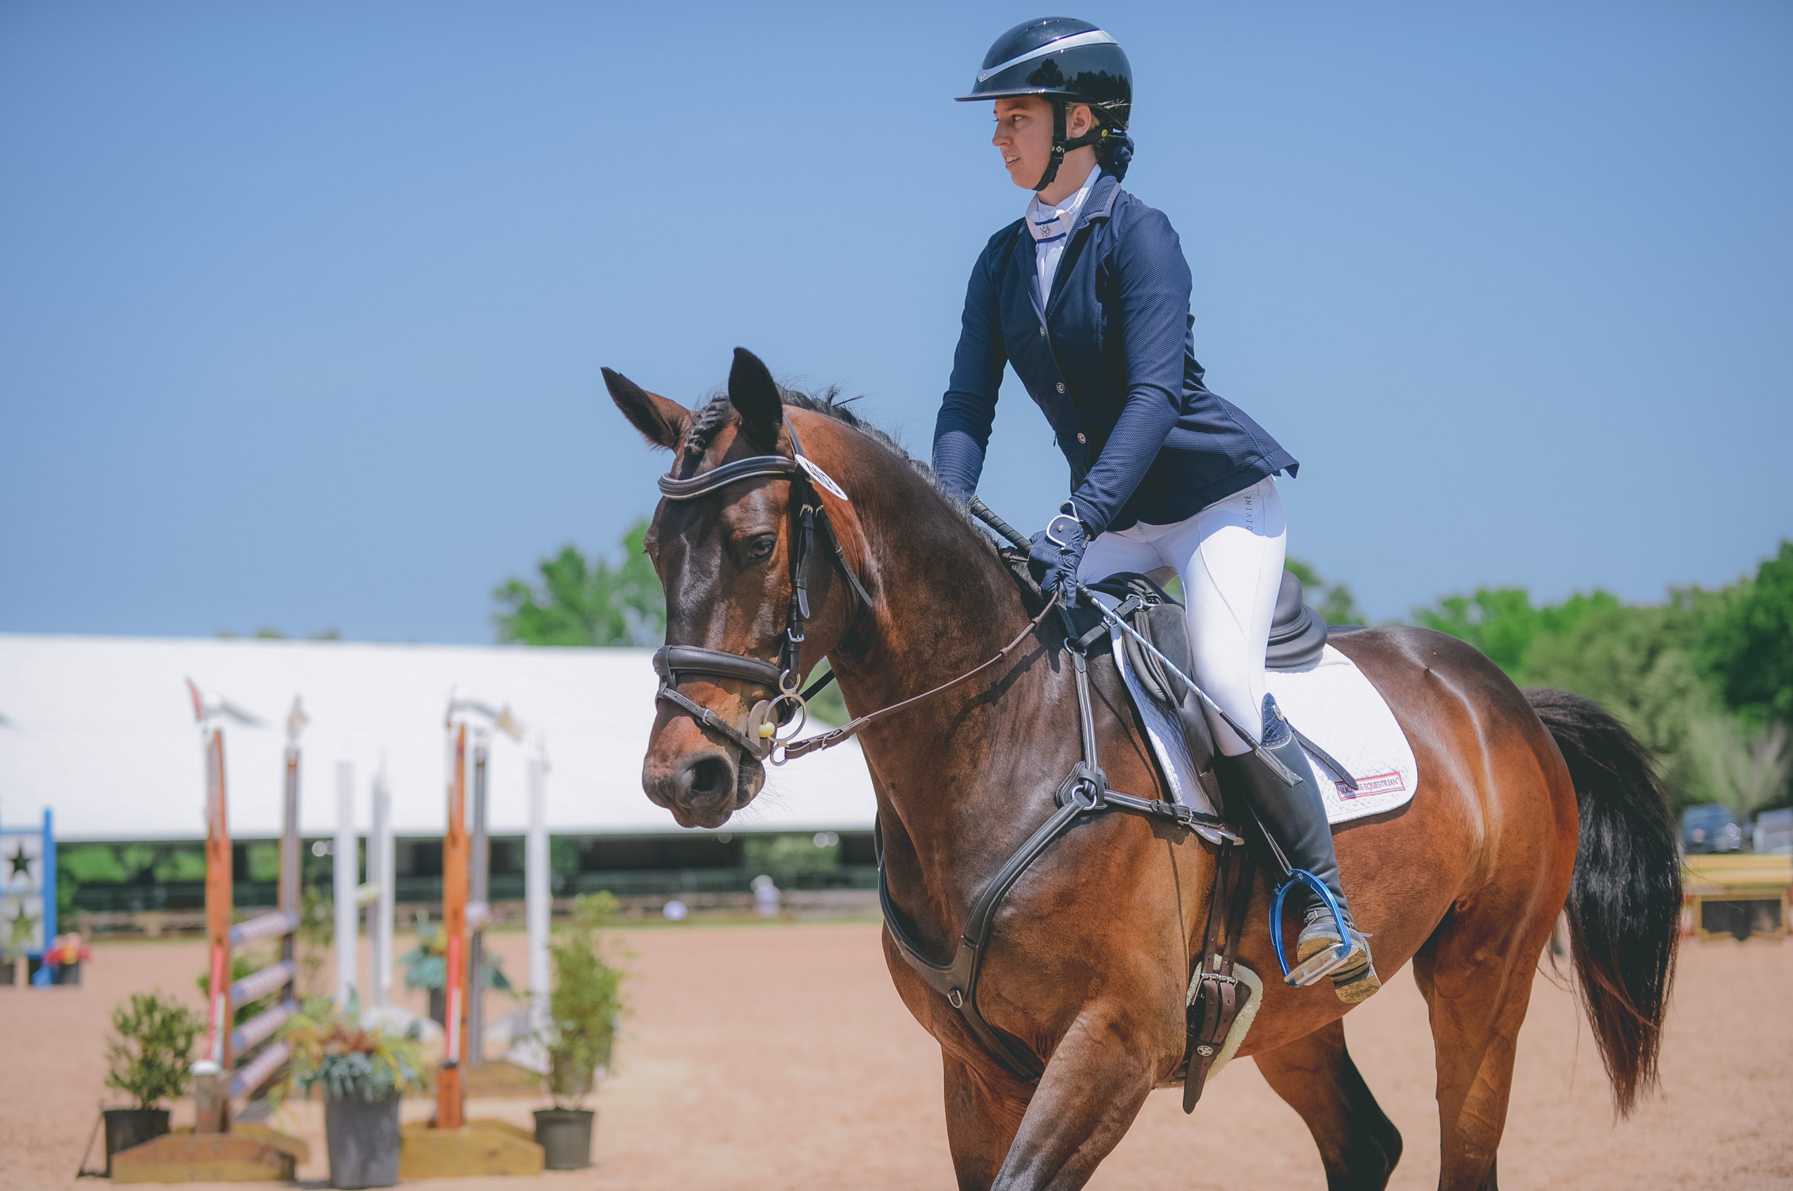
<svg viewBox="0 0 1793 1191"><path fill-rule="evenodd" d="M619 938L635 953L635 1014L620 1069L595 1098L597 1166L529 1184L430 1186L952 1186L938 1050L896 999L875 924L689 924ZM500 935L495 946L520 974L522 937ZM95 1107L109 1096L100 1085L108 1010L154 985L197 1008L201 967L195 940L100 944L79 989L0 989L0 1186L75 1186ZM507 1008L495 998L488 1012ZM1393 1186L1436 1186L1431 1037L1413 978L1390 980L1347 1032L1406 1139ZM1793 1186L1793 946L1685 946L1662 1085L1632 1119L1614 1123L1589 1028L1569 990L1542 973L1520 1035L1503 1186ZM473 1101L470 1116L527 1123L533 1107ZM407 1118L427 1112L407 1101ZM190 1114L178 1107L176 1123ZM312 1143L314 1159L299 1171L310 1186L326 1177L319 1116L316 1105L296 1105L285 1121ZM1192 1118L1174 1092L1156 1092L1090 1186L1323 1184L1300 1119L1253 1064L1239 1062L1210 1084Z"/></svg>

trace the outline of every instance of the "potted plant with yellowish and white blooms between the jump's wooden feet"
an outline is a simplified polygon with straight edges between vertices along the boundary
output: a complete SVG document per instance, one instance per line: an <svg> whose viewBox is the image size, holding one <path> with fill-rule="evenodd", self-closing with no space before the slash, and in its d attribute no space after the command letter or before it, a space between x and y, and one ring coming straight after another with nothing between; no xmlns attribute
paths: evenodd
<svg viewBox="0 0 1793 1191"><path fill-rule="evenodd" d="M278 1107L289 1091L323 1091L330 1186L394 1186L398 1100L407 1087L423 1085L416 1028L402 1037L364 1030L359 1014L337 1014L328 999L314 998L287 1019L280 1037L292 1057L271 1100Z"/></svg>

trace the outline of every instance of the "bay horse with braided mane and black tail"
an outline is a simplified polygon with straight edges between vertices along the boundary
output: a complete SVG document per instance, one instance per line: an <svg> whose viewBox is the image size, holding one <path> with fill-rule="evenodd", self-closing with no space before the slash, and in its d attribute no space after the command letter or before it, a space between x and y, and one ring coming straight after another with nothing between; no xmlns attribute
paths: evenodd
<svg viewBox="0 0 1793 1191"><path fill-rule="evenodd" d="M669 677L647 797L685 827L719 827L751 802L766 772L749 731L757 715L766 724L775 682L801 679L801 661L780 673L794 654L830 661L855 716L972 675L859 734L891 903L911 938L952 955L966 908L1054 813L1079 759L1063 629L1047 618L1027 634L1015 575L925 466L832 398L782 390L751 353L737 349L728 396L699 410L610 369L604 380L629 423L674 453L662 489L678 498L647 532L667 643L741 659ZM798 442L828 485L798 475ZM784 458L755 471L773 455ZM832 555L816 543L812 500ZM793 620L800 602L805 618ZM1018 636L1024 647L992 664ZM1339 869L1384 980L1411 962L1429 1007L1438 1186L1494 1187L1519 1028L1565 906L1615 1109L1655 1084L1680 913L1673 826L1648 752L1587 700L1522 693L1440 632L1363 629L1334 643L1384 695L1420 772L1406 808L1338 831ZM1167 797L1112 659L1092 655L1088 675L1108 781ZM1198 836L1115 813L1083 820L1020 878L975 996L1044 1066L1036 1082L997 1062L884 931L891 978L940 1042L961 1187L1081 1187L1146 1096L1171 1085L1214 865ZM1329 1186L1382 1187L1400 1134L1352 1064L1348 1007L1330 983L1271 978L1268 904L1260 876L1241 958L1266 974L1264 999L1239 1053L1300 1112Z"/></svg>

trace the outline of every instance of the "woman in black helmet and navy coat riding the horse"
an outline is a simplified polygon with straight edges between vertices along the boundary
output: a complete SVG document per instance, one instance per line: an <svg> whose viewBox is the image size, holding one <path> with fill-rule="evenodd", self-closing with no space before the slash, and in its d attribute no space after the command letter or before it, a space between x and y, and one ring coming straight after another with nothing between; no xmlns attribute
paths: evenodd
<svg viewBox="0 0 1793 1191"><path fill-rule="evenodd" d="M1300 464L1201 381L1176 231L1121 190L1133 158L1126 54L1088 21L1033 20L997 38L959 99L995 102L992 143L1035 195L972 269L934 473L961 500L977 491L1011 364L1070 464L1070 500L1033 537L1042 591L1074 605L1078 582L1176 570L1194 679L1235 722L1260 722L1264 749L1300 779L1286 784L1208 713L1223 788L1250 801L1289 865L1320 878L1350 924L1320 783L1264 684L1286 544L1277 475ZM1305 962L1338 947L1339 933L1325 903L1304 895ZM1332 983L1339 999L1361 1001L1381 981L1364 935L1348 933Z"/></svg>

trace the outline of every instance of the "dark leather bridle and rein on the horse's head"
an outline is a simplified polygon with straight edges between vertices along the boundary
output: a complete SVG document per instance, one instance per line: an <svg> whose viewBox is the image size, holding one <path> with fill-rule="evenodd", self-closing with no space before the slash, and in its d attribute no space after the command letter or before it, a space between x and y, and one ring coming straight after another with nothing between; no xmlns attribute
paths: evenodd
<svg viewBox="0 0 1793 1191"><path fill-rule="evenodd" d="M828 512L823 509L821 496L816 493L816 487L819 485L841 500L850 498L845 491L841 491L839 484L828 478L827 471L803 455L803 444L796 437L796 426L785 421L785 430L791 433L791 455L751 455L748 458L737 458L732 464L712 467L710 471L685 480L676 480L671 475L660 476L660 493L667 500L696 500L728 487L730 484L737 484L739 480L753 480L758 476L784 476L791 482L791 500L800 505L798 537L794 548L791 550L791 605L785 613L784 632L780 634L782 643L778 647L778 661L760 661L758 657L748 657L746 654L730 654L728 650L712 650L701 645L663 645L654 650L654 670L660 673L660 690L654 691L654 698L663 698L696 720L699 727L715 733L755 761L769 759L773 765L785 765L787 761L809 756L810 752L821 752L823 749L845 743L857 736L866 725L948 691L959 682L977 677L1013 654L1022 641L1033 636L1033 630L1040 627L1040 621L1044 621L1045 616L1058 607L1058 596L1047 600L1045 607L1040 609L1040 614L1029 620L1027 627L1015 634L1013 641L1004 645L993 657L972 670L966 670L959 677L941 682L940 686L922 691L920 695L904 698L902 702L857 716L855 720L850 720L841 727L828 729L818 736L794 740L794 736L803 731L803 724L809 720L809 700L834 681L834 670L830 668L828 673L821 675L807 688L798 690L803 682L803 627L810 614L809 561L816 552L818 532L828 541L836 564L841 568L841 573L846 575L846 582L859 596L861 609L870 607L873 598L866 591L864 584L859 582L859 575L846 561L846 552L841 550L841 539L836 534L834 525L828 521ZM678 684L683 681L681 675L741 679L757 686L775 688L778 695L753 704L753 709L748 711L748 724L742 729L719 716L714 707L705 707L703 704L683 695L678 690ZM796 727L787 727L791 720L796 720Z"/></svg>

